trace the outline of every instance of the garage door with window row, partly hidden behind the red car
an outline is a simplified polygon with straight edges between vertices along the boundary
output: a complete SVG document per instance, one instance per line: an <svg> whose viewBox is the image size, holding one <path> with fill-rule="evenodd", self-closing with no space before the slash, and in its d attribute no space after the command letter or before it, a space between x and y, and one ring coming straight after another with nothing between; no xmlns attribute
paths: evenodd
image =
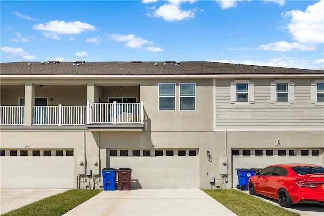
<svg viewBox="0 0 324 216"><path fill-rule="evenodd" d="M323 165L323 149L232 149L232 183L236 188L236 168L264 168L278 163Z"/></svg>

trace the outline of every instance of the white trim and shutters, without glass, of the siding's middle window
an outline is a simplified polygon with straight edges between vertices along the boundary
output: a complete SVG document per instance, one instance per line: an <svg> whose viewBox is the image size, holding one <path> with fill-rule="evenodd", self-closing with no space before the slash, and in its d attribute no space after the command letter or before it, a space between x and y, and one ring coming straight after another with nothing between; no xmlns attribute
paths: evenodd
<svg viewBox="0 0 324 216"><path fill-rule="evenodd" d="M288 84L288 98L287 102L278 102L277 101L277 84ZM281 92L284 93L284 92ZM274 82L270 83L270 100L271 103L274 103L275 106L290 106L291 103L295 103L295 83L290 82L290 80L274 80Z"/></svg>

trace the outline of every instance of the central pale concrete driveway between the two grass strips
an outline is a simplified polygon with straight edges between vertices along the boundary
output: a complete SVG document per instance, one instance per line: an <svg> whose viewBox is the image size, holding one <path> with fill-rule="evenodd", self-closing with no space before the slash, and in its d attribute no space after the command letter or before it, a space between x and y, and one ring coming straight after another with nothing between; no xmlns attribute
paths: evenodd
<svg viewBox="0 0 324 216"><path fill-rule="evenodd" d="M235 215L200 189L102 191L64 215Z"/></svg>

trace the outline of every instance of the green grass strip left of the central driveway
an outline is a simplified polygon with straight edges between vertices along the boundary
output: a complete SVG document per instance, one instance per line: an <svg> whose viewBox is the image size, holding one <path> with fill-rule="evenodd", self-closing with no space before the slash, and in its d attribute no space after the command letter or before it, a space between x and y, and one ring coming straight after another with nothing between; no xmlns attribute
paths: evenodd
<svg viewBox="0 0 324 216"><path fill-rule="evenodd" d="M87 201L91 197L97 195L102 190L77 190L72 189L64 193L57 194L37 202L31 203L24 207L12 210L3 215L62 215L70 209Z"/></svg>

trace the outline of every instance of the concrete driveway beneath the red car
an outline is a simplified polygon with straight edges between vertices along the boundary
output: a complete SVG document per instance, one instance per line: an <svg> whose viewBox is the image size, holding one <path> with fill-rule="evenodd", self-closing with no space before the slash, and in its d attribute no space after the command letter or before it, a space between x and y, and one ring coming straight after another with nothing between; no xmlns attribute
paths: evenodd
<svg viewBox="0 0 324 216"><path fill-rule="evenodd" d="M242 191L242 192L249 194L249 191ZM269 197L262 196L262 195L257 195L255 197L265 202L271 203L272 205L281 207L279 205L278 200L271 199ZM299 213L302 216L324 215L324 204L296 204L293 205L291 208L285 208L285 209Z"/></svg>

